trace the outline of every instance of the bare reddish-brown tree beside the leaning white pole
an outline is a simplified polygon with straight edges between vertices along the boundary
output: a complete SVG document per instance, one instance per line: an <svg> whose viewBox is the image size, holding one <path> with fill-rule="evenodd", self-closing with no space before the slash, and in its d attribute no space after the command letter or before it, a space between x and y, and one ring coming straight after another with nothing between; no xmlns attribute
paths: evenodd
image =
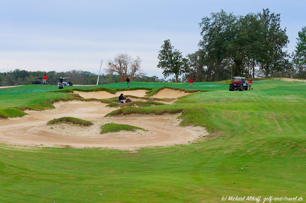
<svg viewBox="0 0 306 203"><path fill-rule="evenodd" d="M133 59L128 54L117 54L113 60L108 61L106 71L109 74L116 73L121 78L130 77L131 79L144 75L140 69L141 58L136 56Z"/></svg>

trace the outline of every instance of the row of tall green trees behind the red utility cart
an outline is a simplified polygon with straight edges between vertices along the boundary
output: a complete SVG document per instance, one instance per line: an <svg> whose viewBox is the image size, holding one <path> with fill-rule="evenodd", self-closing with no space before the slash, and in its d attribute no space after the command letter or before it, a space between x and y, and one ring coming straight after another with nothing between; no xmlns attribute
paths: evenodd
<svg viewBox="0 0 306 203"><path fill-rule="evenodd" d="M169 39L164 41L157 67L165 77L174 75L175 82L233 76L306 78L306 27L298 32L296 49L290 54L285 50L289 39L280 14L263 9L237 16L221 10L203 17L199 26L199 49L185 57Z"/></svg>

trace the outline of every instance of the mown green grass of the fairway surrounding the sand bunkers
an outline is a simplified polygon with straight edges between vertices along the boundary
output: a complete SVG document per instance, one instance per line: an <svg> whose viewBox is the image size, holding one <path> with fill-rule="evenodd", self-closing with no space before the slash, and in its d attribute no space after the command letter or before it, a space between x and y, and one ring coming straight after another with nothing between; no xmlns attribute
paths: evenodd
<svg viewBox="0 0 306 203"><path fill-rule="evenodd" d="M186 83L131 82L130 88L191 89ZM65 87L126 88L126 83ZM131 113L184 111L181 125L205 126L211 139L137 151L0 144L0 202L222 202L222 196L306 199L306 82L195 82L174 104L124 107ZM55 85L0 89L8 108L69 98ZM50 104L51 105L51 104ZM50 107L50 106L48 106ZM0 120L1 122L1 120ZM262 202L262 201L261 201Z"/></svg>

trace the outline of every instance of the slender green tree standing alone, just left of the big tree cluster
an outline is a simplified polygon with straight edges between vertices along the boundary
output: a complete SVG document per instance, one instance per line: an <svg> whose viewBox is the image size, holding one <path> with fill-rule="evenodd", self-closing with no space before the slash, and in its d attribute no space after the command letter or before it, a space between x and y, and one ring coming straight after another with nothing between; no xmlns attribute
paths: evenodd
<svg viewBox="0 0 306 203"><path fill-rule="evenodd" d="M162 74L165 78L174 74L175 82L178 82L178 77L185 73L187 59L183 57L178 49L174 49L170 39L165 40L161 48L157 57L159 59L157 67L163 70Z"/></svg>

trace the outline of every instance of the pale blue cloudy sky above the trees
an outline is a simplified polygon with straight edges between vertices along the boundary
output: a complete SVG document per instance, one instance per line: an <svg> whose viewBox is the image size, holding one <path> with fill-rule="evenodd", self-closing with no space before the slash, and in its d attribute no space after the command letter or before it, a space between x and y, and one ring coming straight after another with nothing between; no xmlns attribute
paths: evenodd
<svg viewBox="0 0 306 203"><path fill-rule="evenodd" d="M235 15L263 8L281 13L291 53L306 26L305 0L201 1L14 1L0 0L0 72L84 70L99 73L117 53L142 58L148 76L163 78L158 51L163 41L183 55L198 49L204 16L221 9Z"/></svg>

